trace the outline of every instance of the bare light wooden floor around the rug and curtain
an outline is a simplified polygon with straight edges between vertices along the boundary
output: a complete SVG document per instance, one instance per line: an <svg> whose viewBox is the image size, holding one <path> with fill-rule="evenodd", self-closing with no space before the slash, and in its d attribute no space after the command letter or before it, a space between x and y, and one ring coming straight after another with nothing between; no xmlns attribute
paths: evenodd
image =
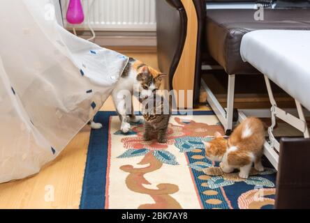
<svg viewBox="0 0 310 223"><path fill-rule="evenodd" d="M158 69L154 51L121 53ZM111 98L106 100L101 110L115 110ZM64 151L35 176L0 184L0 208L79 208L89 133L89 126L85 126Z"/></svg>

